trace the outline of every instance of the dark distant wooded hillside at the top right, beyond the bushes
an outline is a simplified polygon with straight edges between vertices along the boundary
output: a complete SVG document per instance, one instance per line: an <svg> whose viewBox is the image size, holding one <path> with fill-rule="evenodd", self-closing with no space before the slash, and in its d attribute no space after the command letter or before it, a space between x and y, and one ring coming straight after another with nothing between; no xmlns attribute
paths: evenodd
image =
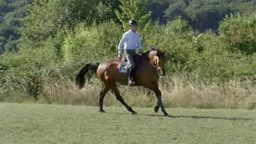
<svg viewBox="0 0 256 144"><path fill-rule="evenodd" d="M173 20L182 16L189 22L193 29L206 31L217 30L219 21L229 13L254 12L256 2L254 0L147 0L147 6L152 11L155 20ZM161 15L161 16L159 16Z"/></svg>

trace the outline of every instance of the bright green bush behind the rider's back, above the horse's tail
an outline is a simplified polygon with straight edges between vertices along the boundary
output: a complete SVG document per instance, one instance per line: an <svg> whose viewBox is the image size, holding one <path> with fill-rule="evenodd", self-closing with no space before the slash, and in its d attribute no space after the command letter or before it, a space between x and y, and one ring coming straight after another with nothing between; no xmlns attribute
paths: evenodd
<svg viewBox="0 0 256 144"><path fill-rule="evenodd" d="M93 24L91 28L80 24L75 31L70 31L64 40L64 63L79 65L113 57L121 35L121 28L113 21Z"/></svg>

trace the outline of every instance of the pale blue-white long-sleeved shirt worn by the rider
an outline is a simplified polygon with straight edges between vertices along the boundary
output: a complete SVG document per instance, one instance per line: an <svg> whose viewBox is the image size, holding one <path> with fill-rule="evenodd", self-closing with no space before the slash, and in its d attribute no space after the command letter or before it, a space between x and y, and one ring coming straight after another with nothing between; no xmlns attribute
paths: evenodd
<svg viewBox="0 0 256 144"><path fill-rule="evenodd" d="M118 46L118 54L122 54L123 46L124 50L135 50L136 47L141 50L142 46L139 40L139 33L137 31L133 32L132 30L125 32Z"/></svg>

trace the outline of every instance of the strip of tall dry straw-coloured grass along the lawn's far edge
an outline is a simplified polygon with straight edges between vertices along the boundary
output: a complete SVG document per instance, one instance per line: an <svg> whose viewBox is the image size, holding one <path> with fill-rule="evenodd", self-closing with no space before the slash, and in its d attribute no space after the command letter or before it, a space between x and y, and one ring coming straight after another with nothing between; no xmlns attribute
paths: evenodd
<svg viewBox="0 0 256 144"><path fill-rule="evenodd" d="M166 107L203 109L255 109L256 85L251 80L232 79L228 83L202 83L192 76L165 76L160 79L160 90ZM156 98L153 91L143 87L119 86L124 100L135 107L153 107ZM91 79L82 90L69 79L48 83L39 102L98 105L102 83ZM119 106L110 90L104 100L105 106Z"/></svg>

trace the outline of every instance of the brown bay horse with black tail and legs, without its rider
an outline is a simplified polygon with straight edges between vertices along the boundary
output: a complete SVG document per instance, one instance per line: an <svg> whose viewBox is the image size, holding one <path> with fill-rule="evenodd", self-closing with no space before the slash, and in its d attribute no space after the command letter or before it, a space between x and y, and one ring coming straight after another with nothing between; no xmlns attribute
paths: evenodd
<svg viewBox="0 0 256 144"><path fill-rule="evenodd" d="M154 90L154 93L158 99L157 105L154 107L154 112L158 113L158 109L161 108L161 112L164 113L164 116L169 116L165 111L163 102L161 101L161 90L159 90L158 80L159 74L165 76L165 52L160 50L152 49L143 53L139 57L139 69L135 72L135 86L143 86L147 89ZM98 102L98 111L101 113L106 113L103 109L103 100L106 93L109 90L113 90L115 97L121 104L123 104L126 109L132 114L136 112L129 106L124 99L121 97L121 94L117 88L117 83L123 85L128 84L128 73L119 72L119 67L121 65L121 59L111 58L109 60L99 62L87 63L84 65L80 72L76 76L76 84L83 88L85 83L85 74L91 70L95 72L95 75L98 79L104 83L104 88L99 94Z"/></svg>

